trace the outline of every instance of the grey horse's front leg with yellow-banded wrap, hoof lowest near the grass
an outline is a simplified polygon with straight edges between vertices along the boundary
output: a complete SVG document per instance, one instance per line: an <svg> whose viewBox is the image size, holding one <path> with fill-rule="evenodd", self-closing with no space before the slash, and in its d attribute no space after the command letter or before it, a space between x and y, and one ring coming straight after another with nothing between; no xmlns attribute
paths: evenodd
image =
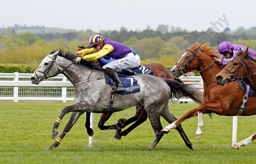
<svg viewBox="0 0 256 164"><path fill-rule="evenodd" d="M52 150L53 148L59 146L59 144L62 141L62 139L64 138L64 136L67 134L67 132L70 131L72 126L76 123L76 121L78 120L80 115L82 115L83 113L84 112L72 112L71 116L70 116L70 119L69 119L69 122L67 123L67 125L64 128L63 132L59 135L59 137L56 139L56 141L50 147L45 149L45 151Z"/></svg>

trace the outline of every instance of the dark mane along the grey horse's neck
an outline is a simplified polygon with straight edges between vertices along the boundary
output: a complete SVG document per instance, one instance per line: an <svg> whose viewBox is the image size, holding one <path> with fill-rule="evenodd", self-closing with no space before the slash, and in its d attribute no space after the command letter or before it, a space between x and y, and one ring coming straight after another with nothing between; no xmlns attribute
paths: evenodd
<svg viewBox="0 0 256 164"><path fill-rule="evenodd" d="M55 49L50 54L54 54L57 51L59 51L59 50ZM60 50L58 56L63 57L63 58L68 59L68 60L71 60L71 61L74 61L74 59L76 59L76 57L81 57L79 55L74 55L72 52L69 52L69 51L65 52L65 54L64 54L64 50L63 49ZM104 71L104 69L100 68L99 65L97 63L95 63L94 60L93 61L81 60L80 64L84 65L84 66L87 66L87 67L89 67L91 69L94 68L94 69L99 70L99 71Z"/></svg>

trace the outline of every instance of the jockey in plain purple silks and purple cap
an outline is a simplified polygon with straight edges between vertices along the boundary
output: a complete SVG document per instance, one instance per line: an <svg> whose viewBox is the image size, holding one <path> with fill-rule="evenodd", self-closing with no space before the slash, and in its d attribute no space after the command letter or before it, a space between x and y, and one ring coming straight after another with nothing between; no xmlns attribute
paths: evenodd
<svg viewBox="0 0 256 164"><path fill-rule="evenodd" d="M236 56L239 48L242 50L247 49L247 47L244 45L232 45L230 42L221 42L217 52L219 52L222 56L219 59L214 57L214 59L227 65L227 63L233 59L234 56ZM248 52L256 58L256 52L254 50L248 49Z"/></svg>

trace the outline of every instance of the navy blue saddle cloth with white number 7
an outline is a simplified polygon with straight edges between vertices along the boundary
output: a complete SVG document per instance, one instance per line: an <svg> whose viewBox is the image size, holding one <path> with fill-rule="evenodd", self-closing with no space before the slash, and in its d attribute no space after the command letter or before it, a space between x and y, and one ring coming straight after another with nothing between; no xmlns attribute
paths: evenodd
<svg viewBox="0 0 256 164"><path fill-rule="evenodd" d="M111 82L111 86L114 85L114 82L111 78L108 78ZM125 91L121 92L121 94L128 94L133 92L140 92L140 86L138 81L134 79L132 76L119 77Z"/></svg>

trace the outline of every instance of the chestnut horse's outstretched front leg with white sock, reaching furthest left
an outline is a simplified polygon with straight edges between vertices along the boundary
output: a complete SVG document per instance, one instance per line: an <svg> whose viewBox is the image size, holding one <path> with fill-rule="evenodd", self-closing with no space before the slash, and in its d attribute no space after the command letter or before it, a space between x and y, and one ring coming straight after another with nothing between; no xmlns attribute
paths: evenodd
<svg viewBox="0 0 256 164"><path fill-rule="evenodd" d="M191 117L194 117L196 115L197 115L197 108L190 110L189 112L185 113L182 117L172 122L170 125L165 126L165 128L162 129L162 133L167 134L168 132L170 132L171 129L175 129L178 125L180 125L181 122Z"/></svg>

